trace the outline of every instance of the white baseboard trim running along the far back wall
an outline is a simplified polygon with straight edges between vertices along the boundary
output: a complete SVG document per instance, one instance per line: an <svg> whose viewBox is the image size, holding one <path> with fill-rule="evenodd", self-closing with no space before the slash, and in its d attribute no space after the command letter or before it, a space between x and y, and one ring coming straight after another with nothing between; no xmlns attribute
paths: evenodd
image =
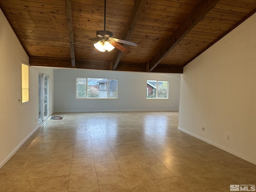
<svg viewBox="0 0 256 192"><path fill-rule="evenodd" d="M70 111L70 110L57 110L54 111L54 113L75 113L75 112L154 112L154 111L179 111L178 109L174 109L174 110L142 110L142 109L138 109L138 110L74 110L74 111Z"/></svg>

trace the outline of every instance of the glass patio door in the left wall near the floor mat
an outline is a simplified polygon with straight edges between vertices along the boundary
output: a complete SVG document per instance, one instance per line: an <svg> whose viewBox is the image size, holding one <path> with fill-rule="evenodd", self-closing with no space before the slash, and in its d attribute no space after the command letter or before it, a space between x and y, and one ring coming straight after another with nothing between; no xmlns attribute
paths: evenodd
<svg viewBox="0 0 256 192"><path fill-rule="evenodd" d="M38 123L49 117L49 76L38 74Z"/></svg>

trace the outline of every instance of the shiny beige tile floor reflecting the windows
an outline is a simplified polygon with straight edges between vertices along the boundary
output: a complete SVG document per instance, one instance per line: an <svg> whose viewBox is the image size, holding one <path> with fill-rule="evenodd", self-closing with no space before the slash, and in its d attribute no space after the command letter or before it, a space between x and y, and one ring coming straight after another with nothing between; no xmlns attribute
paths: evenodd
<svg viewBox="0 0 256 192"><path fill-rule="evenodd" d="M178 112L63 113L0 169L0 192L228 192L256 165L177 130Z"/></svg>

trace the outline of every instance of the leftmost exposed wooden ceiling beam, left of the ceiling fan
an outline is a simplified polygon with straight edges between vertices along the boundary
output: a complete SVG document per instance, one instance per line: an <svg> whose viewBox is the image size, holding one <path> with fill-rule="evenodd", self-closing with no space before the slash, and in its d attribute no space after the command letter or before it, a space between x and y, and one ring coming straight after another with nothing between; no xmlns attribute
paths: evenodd
<svg viewBox="0 0 256 192"><path fill-rule="evenodd" d="M69 34L69 42L74 43L74 32L73 32L73 18L72 18L72 3L71 0L66 0L66 11L68 18L68 34ZM74 44L70 45L70 55L71 55L71 63L72 67L76 66L75 60L75 48Z"/></svg>

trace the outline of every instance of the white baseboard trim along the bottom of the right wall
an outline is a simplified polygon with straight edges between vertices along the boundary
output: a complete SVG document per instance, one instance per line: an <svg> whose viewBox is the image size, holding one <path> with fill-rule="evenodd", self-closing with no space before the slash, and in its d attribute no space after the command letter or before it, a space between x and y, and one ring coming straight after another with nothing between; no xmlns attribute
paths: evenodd
<svg viewBox="0 0 256 192"><path fill-rule="evenodd" d="M252 158L250 158L250 157L248 157L248 156L245 156L244 154L241 154L241 153L239 153L239 152L233 151L233 150L231 150L231 149L229 149L229 148L226 148L226 147L224 147L224 146L222 146L222 145L220 145L220 144L218 144L218 143L215 143L215 142L213 142L213 141L211 141L211 140L208 140L208 139L206 139L206 138L203 138L203 137L201 137L201 136L198 136L198 135L196 135L196 134L194 134L194 133L192 133L192 132L189 132L189 131L187 131L187 130L184 130L184 129L180 128L180 127L178 127L178 130L180 130L180 131L182 131L182 132L184 132L184 133L186 133L186 134L189 134L189 135L191 135L191 136L193 136L193 137L195 137L195 138L198 138L198 139L200 139L200 140L202 140L202 141L204 141L204 142L206 142L206 143L208 143L208 144L211 144L211 145L213 145L213 146L215 146L215 147L218 147L218 148L220 148L220 149L222 149L222 150L224 150L224 151L226 151L226 152L229 152L229 153L231 153L231 154L233 154L233 155L235 155L235 156L238 156L238 157L240 157L240 158L242 158L242 159L244 159L244 160L246 160L246 161L248 161L248 162L251 162L251 163L253 163L253 164L256 165L256 160L255 160L255 159L252 159Z"/></svg>

